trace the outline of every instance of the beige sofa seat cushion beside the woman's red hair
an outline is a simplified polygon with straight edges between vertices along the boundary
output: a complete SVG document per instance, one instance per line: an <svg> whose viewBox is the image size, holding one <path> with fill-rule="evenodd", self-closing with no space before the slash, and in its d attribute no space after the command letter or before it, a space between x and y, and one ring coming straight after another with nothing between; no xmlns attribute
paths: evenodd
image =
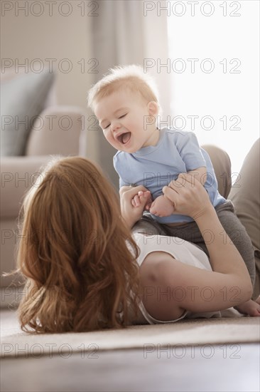
<svg viewBox="0 0 260 392"><path fill-rule="evenodd" d="M1 158L1 219L18 217L23 196L49 160L49 156Z"/></svg>

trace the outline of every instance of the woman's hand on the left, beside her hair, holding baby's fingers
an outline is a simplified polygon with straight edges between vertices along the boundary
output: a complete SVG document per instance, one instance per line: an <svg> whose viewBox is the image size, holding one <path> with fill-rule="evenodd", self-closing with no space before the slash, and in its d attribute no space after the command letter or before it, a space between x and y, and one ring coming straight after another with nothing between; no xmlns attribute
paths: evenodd
<svg viewBox="0 0 260 392"><path fill-rule="evenodd" d="M146 207L148 200L151 199L151 192L145 187L139 185L138 187L121 187L119 190L121 217L126 222L126 225L131 229L134 224L141 219L143 210ZM138 195L138 197L136 197ZM136 197L136 198L135 198ZM133 202L133 200L135 200Z"/></svg>

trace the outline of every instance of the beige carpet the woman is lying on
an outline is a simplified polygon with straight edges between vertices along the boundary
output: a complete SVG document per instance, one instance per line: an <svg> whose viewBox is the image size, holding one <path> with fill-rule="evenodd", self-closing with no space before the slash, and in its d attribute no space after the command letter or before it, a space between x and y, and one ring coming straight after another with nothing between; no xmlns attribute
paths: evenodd
<svg viewBox="0 0 260 392"><path fill-rule="evenodd" d="M173 324L136 325L106 331L29 335L21 332L14 311L1 311L1 357L28 357L115 349L178 348L187 345L239 344L258 342L259 317L193 319ZM157 346L158 345L158 346Z"/></svg>

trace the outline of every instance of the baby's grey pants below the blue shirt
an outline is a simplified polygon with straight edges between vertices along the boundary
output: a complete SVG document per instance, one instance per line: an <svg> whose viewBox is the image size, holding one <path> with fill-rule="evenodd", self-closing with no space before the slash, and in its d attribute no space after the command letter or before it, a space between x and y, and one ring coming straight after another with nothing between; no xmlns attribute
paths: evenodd
<svg viewBox="0 0 260 392"><path fill-rule="evenodd" d="M215 210L224 230L227 232L232 243L235 247L237 247L237 250L244 259L254 287L254 280L256 277L254 248L246 229L239 221L237 215L235 215L233 203L230 200L227 200L227 202L217 206ZM167 235L170 237L185 239L186 241L193 242L193 244L200 247L207 256L209 256L209 253L205 242L214 241L214 238L212 237L213 233L210 229L208 232L205 232L205 239L203 239L196 222L188 222L184 225L172 227L167 224L156 222L156 220L153 220L150 215L143 215L141 220L134 225L132 232L139 232L146 235ZM227 241L227 236L225 236L224 233L223 241Z"/></svg>

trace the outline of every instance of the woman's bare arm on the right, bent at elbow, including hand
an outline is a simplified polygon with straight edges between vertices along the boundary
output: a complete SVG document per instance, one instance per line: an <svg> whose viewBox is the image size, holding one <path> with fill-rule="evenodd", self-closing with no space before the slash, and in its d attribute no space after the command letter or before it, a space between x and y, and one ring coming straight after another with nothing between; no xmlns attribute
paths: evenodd
<svg viewBox="0 0 260 392"><path fill-rule="evenodd" d="M173 201L176 213L190 215L197 222L205 237L213 271L188 266L164 252L149 254L140 268L142 299L151 315L161 320L175 319L185 310L227 309L249 300L252 293L247 267L224 232L207 192L197 180L190 182L188 177L186 180L183 186L181 178L172 182L163 192ZM146 295L145 298L147 287L155 289L156 297ZM180 299L171 295L169 299L163 294L158 296L158 291L179 296L183 293L183 296Z"/></svg>

